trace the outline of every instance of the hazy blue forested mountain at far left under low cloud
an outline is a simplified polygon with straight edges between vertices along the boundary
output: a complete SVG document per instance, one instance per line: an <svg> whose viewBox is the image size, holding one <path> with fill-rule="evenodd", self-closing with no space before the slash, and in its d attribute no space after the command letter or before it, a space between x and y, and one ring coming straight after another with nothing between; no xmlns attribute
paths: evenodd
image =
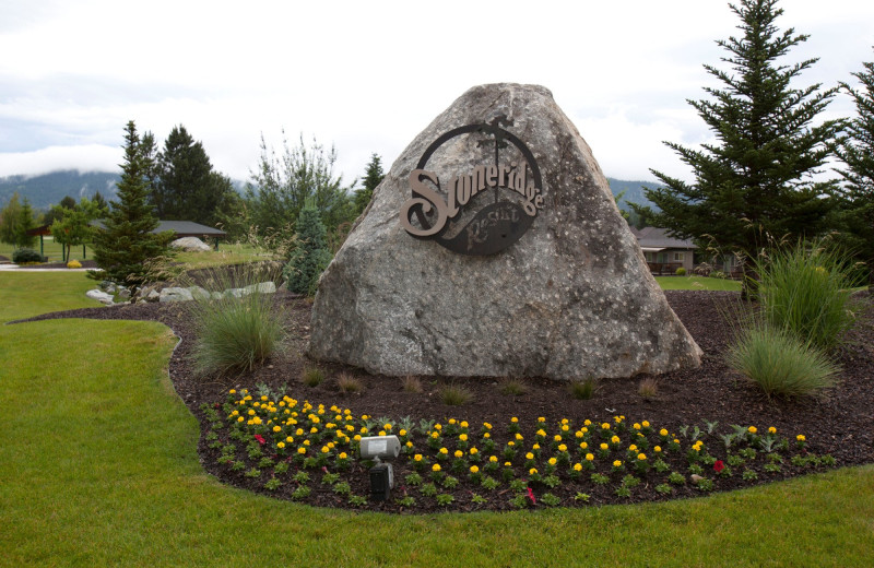
<svg viewBox="0 0 874 568"><path fill-rule="evenodd" d="M37 210L47 210L66 197L79 201L92 198L97 191L106 200L115 199L119 175L108 171L80 173L74 169L52 171L42 176L9 176L0 178L0 206L9 202L12 193L31 201Z"/></svg>

